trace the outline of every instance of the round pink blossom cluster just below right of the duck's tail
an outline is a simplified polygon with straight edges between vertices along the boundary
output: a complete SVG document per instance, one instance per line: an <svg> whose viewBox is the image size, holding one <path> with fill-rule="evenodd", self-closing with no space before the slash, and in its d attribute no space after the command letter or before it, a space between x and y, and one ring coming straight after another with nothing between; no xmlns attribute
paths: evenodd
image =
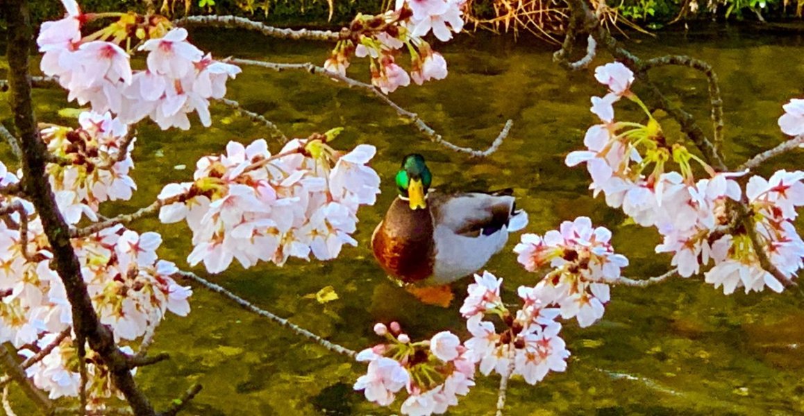
<svg viewBox="0 0 804 416"><path fill-rule="evenodd" d="M626 256L614 252L611 231L593 227L592 220L578 217L564 221L560 230L544 237L525 234L514 247L517 261L527 271L549 265L553 270L533 288L531 297L560 307L561 317L578 320L581 328L599 320L610 300L609 283L617 283ZM520 293L520 296L523 296Z"/></svg>

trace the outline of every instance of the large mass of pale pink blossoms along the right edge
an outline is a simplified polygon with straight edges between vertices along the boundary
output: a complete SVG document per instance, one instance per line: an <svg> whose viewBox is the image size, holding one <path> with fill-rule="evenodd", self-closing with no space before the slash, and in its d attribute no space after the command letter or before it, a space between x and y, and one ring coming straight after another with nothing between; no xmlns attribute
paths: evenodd
<svg viewBox="0 0 804 416"><path fill-rule="evenodd" d="M745 231L730 234L736 218L729 206L742 201L743 190L736 178L745 173L715 172L683 145L668 145L658 122L630 91L634 74L625 65L597 67L595 77L609 88L606 96L592 98L591 111L602 124L587 130L587 149L569 153L566 164L585 163L594 195L602 192L609 206L621 208L641 226L656 227L663 238L656 251L673 254L671 264L678 267L679 275L698 274L713 259L715 266L707 272L706 281L723 285L727 294L735 288L749 292L765 286L781 292L783 282L763 270L750 236ZM648 122L614 120L613 103L621 97L639 104ZM786 134L800 134L804 112L799 101L804 103L792 100L784 106L786 114L779 125ZM668 161L677 163L679 172L668 170ZM704 178L695 178L693 162L704 169ZM748 183L745 197L757 224L757 239L773 266L790 280L801 267L804 251L791 222L795 208L804 201L799 194L802 177L799 172L781 170L769 181L755 176ZM774 186L779 191L772 192Z"/></svg>

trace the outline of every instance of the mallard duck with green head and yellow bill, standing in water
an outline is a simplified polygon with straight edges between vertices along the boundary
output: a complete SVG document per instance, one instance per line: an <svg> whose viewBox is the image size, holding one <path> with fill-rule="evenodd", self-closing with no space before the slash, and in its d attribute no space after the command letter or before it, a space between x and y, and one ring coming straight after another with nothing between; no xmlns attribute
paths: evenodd
<svg viewBox="0 0 804 416"><path fill-rule="evenodd" d="M371 235L379 265L420 300L449 305L449 283L479 271L527 225L511 190L441 194L420 154L396 173L399 195Z"/></svg>

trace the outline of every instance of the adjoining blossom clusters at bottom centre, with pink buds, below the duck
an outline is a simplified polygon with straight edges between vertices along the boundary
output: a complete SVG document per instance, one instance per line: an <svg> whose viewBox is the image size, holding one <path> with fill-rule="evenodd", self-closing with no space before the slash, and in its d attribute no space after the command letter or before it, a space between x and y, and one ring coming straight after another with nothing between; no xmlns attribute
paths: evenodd
<svg viewBox="0 0 804 416"><path fill-rule="evenodd" d="M478 365L484 375L521 376L531 385L551 371L563 372L569 352L559 336L559 309L547 308L539 288L523 286L523 307L512 313L500 298L502 283L488 271L475 275L461 306L471 334L466 342L449 331L412 342L398 323L376 324L375 333L386 342L358 354L357 360L367 361L368 369L355 382L355 390L363 390L367 400L380 406L390 406L404 390L408 397L401 414L443 414L457 405L457 396L469 393ZM502 320L500 329L494 319Z"/></svg>

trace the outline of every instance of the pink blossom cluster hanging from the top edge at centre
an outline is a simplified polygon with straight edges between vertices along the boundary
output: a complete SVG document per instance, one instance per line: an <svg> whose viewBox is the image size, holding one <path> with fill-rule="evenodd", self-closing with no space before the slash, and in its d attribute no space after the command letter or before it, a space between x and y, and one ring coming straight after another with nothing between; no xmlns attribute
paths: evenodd
<svg viewBox="0 0 804 416"><path fill-rule="evenodd" d="M324 67L346 75L352 54L367 57L371 83L386 94L408 86L411 80L419 85L443 80L446 60L422 38L432 30L442 42L452 39L453 32L463 28L463 4L455 0L398 0L395 10L377 16L359 15L351 23L350 39L338 42ZM411 54L410 74L396 63L405 46Z"/></svg>

